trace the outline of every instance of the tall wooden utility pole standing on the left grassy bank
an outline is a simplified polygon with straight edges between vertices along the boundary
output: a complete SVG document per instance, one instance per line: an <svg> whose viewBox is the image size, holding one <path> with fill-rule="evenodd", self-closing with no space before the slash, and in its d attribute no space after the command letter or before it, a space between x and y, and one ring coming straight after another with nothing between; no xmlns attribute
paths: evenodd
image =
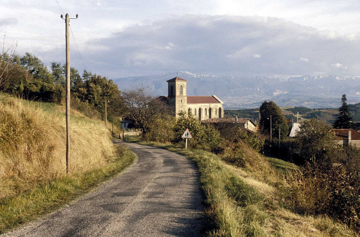
<svg viewBox="0 0 360 237"><path fill-rule="evenodd" d="M63 15L61 19L64 20ZM66 173L71 173L70 166L70 37L69 37L69 27L70 27L70 18L69 14L65 15L65 40L66 40Z"/></svg>

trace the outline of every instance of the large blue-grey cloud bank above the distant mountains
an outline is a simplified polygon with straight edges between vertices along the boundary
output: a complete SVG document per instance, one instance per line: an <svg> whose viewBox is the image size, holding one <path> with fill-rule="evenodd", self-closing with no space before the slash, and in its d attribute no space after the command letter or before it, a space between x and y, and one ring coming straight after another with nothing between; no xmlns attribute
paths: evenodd
<svg viewBox="0 0 360 237"><path fill-rule="evenodd" d="M172 71L360 75L355 64L360 55L359 38L334 36L271 17L186 15L134 25L87 45L97 49L90 52L96 59L90 67L109 77ZM341 61L341 66L334 61ZM107 65L106 71L103 65Z"/></svg>

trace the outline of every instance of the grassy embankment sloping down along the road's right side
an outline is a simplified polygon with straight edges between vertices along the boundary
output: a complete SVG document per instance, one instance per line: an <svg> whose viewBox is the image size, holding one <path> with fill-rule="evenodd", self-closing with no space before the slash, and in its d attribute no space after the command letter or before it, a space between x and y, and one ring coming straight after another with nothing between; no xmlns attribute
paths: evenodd
<svg viewBox="0 0 360 237"><path fill-rule="evenodd" d="M128 138L128 141L135 140ZM291 211L282 195L287 187L285 175L297 171L291 163L266 158L244 146L247 164L236 167L203 150L140 143L180 153L197 163L207 197L207 214L214 225L208 236L357 236L326 216L299 215Z"/></svg>

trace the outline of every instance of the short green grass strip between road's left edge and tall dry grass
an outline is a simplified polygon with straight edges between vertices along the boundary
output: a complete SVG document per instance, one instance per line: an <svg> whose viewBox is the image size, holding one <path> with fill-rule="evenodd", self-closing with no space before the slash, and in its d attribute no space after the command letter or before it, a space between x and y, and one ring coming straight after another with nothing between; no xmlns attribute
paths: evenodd
<svg viewBox="0 0 360 237"><path fill-rule="evenodd" d="M135 154L126 149L102 167L69 177L56 178L36 186L31 191L22 192L16 197L2 199L0 201L0 234L18 224L34 220L41 214L61 207L64 203L123 170L134 161L134 158Z"/></svg>

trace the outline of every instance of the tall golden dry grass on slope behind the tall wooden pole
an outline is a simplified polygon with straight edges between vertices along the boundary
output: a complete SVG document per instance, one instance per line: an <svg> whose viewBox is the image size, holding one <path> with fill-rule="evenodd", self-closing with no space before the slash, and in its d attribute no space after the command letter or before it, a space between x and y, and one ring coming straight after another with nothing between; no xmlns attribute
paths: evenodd
<svg viewBox="0 0 360 237"><path fill-rule="evenodd" d="M6 98L0 101L0 199L65 176L66 127L62 107ZM71 117L73 174L101 167L114 156L104 124Z"/></svg>

